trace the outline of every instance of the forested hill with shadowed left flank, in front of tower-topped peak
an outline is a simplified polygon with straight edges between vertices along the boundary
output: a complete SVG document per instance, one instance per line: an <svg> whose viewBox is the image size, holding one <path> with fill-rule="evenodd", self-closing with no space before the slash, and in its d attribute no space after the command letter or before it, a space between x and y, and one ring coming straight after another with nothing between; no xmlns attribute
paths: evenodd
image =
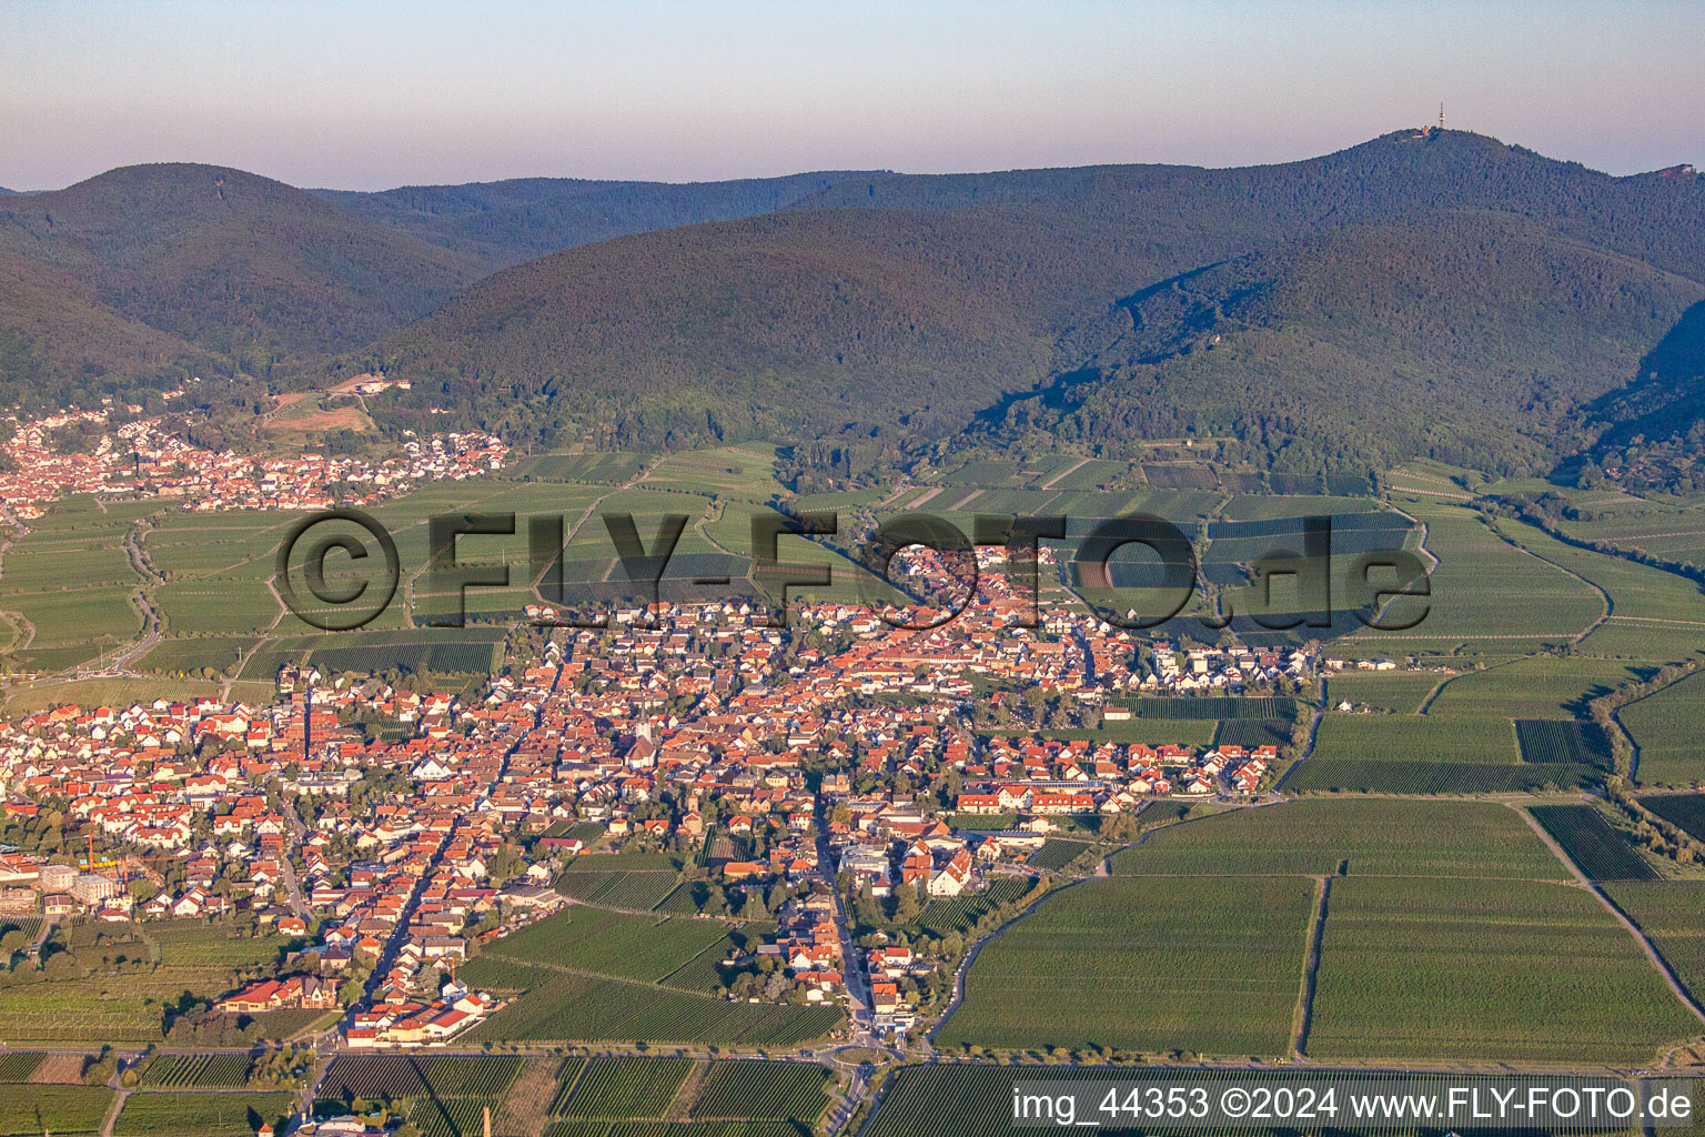
<svg viewBox="0 0 1705 1137"><path fill-rule="evenodd" d="M991 413L975 445L1043 433L1103 453L1236 436L1258 465L1384 469L1424 453L1545 469L1572 411L1621 385L1705 285L1490 211L1352 225L1144 290L1083 375Z"/></svg>

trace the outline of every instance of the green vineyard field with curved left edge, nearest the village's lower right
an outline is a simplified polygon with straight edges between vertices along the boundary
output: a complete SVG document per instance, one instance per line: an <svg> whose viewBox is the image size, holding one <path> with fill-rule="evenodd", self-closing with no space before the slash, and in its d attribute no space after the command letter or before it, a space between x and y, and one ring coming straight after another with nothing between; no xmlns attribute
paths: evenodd
<svg viewBox="0 0 1705 1137"><path fill-rule="evenodd" d="M1315 883L1089 880L989 941L939 1047L1277 1053Z"/></svg>

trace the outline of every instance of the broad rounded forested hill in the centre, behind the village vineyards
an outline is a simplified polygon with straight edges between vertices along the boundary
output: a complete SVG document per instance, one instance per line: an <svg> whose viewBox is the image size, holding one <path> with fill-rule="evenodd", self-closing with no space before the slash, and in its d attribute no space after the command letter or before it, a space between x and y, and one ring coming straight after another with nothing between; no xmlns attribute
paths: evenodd
<svg viewBox="0 0 1705 1137"><path fill-rule="evenodd" d="M440 407L622 445L934 438L1040 382L1072 312L1158 271L1091 223L774 215L530 261L346 366L426 380L375 406L399 424Z"/></svg>

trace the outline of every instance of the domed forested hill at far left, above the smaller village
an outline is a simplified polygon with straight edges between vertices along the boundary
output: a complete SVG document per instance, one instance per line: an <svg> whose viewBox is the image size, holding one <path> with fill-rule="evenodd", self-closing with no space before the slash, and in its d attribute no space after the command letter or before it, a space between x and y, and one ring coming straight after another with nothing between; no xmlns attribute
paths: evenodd
<svg viewBox="0 0 1705 1137"><path fill-rule="evenodd" d="M210 165L133 165L9 196L0 249L128 320L261 363L375 339L477 276L469 257Z"/></svg>

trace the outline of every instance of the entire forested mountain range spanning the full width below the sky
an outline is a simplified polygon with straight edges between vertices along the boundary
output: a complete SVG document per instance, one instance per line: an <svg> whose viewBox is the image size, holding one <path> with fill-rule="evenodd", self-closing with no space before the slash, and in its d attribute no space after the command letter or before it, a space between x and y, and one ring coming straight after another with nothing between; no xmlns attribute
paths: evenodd
<svg viewBox="0 0 1705 1137"><path fill-rule="evenodd" d="M648 225L670 228L598 240ZM1673 481L1705 416L1702 285L1691 169L1611 177L1463 131L1214 170L380 194L143 165L0 198L0 389L225 375L198 404L223 423L380 368L413 380L370 401L382 426L520 443L905 465L1195 430L1294 472L1540 472L1596 443L1569 469Z"/></svg>

